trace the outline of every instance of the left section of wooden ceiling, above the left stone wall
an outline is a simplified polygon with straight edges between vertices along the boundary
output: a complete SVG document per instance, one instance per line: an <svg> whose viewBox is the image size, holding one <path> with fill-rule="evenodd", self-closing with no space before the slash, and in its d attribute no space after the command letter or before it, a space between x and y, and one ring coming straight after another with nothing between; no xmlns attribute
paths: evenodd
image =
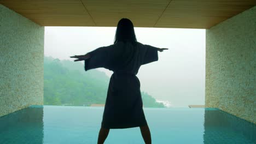
<svg viewBox="0 0 256 144"><path fill-rule="evenodd" d="M0 0L0 3L41 26L95 26L80 0Z"/></svg>

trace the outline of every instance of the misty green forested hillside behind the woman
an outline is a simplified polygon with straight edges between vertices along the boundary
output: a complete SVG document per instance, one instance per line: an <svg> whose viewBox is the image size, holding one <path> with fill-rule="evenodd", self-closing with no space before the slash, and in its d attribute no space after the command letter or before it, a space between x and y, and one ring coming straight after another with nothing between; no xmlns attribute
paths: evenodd
<svg viewBox="0 0 256 144"><path fill-rule="evenodd" d="M104 104L108 83L103 71L85 71L80 62L44 57L44 105ZM142 100L144 107L165 107L146 92Z"/></svg>

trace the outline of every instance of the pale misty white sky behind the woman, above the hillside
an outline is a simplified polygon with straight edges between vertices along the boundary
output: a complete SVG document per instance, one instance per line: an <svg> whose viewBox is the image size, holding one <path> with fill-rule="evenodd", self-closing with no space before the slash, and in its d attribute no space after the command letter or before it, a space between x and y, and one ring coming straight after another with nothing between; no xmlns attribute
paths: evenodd
<svg viewBox="0 0 256 144"><path fill-rule="evenodd" d="M44 54L59 59L112 45L116 27L45 27ZM169 50L142 65L141 90L175 107L205 104L205 29L135 28L137 41ZM84 62L83 62L84 63ZM112 74L106 69L108 76ZM85 72L86 73L86 72ZM107 94L106 94L107 95Z"/></svg>

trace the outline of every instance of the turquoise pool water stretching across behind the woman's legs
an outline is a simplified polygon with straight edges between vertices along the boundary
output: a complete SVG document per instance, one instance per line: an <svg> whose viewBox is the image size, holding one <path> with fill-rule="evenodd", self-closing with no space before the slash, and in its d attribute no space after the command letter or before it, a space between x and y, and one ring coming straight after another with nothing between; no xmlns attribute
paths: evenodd
<svg viewBox="0 0 256 144"><path fill-rule="evenodd" d="M30 106L0 118L0 143L97 143L103 107ZM218 109L144 108L152 143L256 143L256 125ZM143 143L139 128L105 143Z"/></svg>

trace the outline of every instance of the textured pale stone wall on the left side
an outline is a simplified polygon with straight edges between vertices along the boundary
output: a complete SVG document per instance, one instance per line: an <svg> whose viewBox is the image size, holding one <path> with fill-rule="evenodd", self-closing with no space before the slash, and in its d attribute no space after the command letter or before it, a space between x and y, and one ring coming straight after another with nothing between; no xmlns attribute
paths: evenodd
<svg viewBox="0 0 256 144"><path fill-rule="evenodd" d="M0 116L43 105L44 27L0 4Z"/></svg>

